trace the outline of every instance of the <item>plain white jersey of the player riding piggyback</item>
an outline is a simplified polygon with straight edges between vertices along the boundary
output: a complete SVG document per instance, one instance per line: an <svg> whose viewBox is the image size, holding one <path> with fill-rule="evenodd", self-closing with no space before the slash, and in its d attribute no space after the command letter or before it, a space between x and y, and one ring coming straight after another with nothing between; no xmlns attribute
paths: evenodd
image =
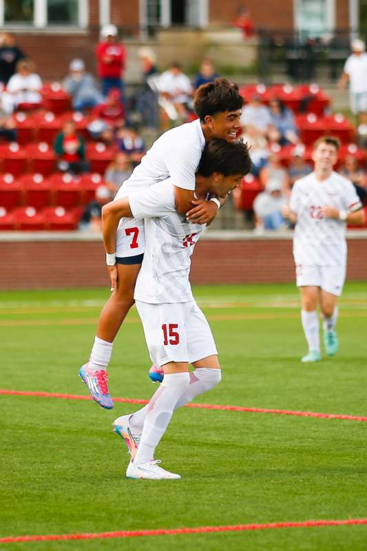
<svg viewBox="0 0 367 551"><path fill-rule="evenodd" d="M168 130L154 142L132 175L118 189L115 199L127 196L130 191L174 179L177 187L195 189L195 173L198 169L205 137L200 121L186 123Z"/></svg>

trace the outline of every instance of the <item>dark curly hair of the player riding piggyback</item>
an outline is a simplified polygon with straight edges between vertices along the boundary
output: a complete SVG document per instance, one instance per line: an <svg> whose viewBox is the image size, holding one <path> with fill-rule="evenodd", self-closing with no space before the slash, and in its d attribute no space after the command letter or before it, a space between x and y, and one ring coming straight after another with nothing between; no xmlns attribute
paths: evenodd
<svg viewBox="0 0 367 551"><path fill-rule="evenodd" d="M242 108L243 103L237 84L227 79L215 79L198 87L193 99L193 108L200 121L204 123L207 115L237 111Z"/></svg>

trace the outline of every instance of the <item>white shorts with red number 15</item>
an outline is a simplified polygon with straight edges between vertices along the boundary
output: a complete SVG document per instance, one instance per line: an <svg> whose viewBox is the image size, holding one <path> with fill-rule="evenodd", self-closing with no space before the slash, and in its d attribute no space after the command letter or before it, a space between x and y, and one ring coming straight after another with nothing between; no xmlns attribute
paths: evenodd
<svg viewBox="0 0 367 551"><path fill-rule="evenodd" d="M207 319L194 300L175 304L147 304L136 300L136 309L154 364L192 364L218 354Z"/></svg>

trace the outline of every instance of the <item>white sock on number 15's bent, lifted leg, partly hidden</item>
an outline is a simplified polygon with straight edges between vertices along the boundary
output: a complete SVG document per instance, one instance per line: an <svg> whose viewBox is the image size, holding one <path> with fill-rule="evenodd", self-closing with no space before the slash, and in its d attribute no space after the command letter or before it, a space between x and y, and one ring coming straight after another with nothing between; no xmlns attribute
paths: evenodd
<svg viewBox="0 0 367 551"><path fill-rule="evenodd" d="M211 388L219 384L222 378L222 370L208 367L200 367L195 371L189 373L189 377L189 386L187 387L185 393L182 394L180 399L178 399L178 402L174 407L175 411L177 408L185 406L186 404L191 402L191 400L193 400L199 394L210 391ZM131 424L132 428L134 428L136 431L143 430L148 406L149 404L139 409L129 418L129 424Z"/></svg>

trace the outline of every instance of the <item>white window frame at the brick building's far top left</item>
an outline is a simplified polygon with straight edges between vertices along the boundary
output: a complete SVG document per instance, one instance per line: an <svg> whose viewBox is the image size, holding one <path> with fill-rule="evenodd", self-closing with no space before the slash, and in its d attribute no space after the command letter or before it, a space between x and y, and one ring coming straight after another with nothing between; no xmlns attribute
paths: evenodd
<svg viewBox="0 0 367 551"><path fill-rule="evenodd" d="M67 23L60 23L55 25L52 23L48 25L47 21L47 0L34 0L34 14L33 23L6 23L5 17L5 0L0 0L0 27L5 29L12 29L14 27L21 27L22 29L45 29L48 28L66 28L66 29L85 29L89 22L89 5L88 0L78 0L78 25L68 25Z"/></svg>

